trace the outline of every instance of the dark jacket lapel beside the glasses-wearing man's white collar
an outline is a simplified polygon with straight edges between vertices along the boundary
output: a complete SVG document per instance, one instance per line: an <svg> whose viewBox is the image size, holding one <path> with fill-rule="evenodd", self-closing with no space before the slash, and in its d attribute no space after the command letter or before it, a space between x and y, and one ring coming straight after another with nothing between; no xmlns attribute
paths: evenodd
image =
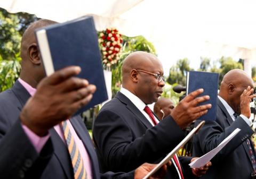
<svg viewBox="0 0 256 179"><path fill-rule="evenodd" d="M140 112L140 110L132 103L132 101L123 95L121 92L118 92L115 98L119 99L123 104L126 105L126 108L132 112L136 118L144 124L147 129L152 127L152 124L147 120L147 118Z"/></svg>

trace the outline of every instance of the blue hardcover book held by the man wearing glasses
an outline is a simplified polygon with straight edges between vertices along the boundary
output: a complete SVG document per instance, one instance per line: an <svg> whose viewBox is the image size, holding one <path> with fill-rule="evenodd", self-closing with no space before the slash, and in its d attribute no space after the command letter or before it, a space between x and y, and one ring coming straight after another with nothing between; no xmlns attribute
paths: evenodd
<svg viewBox="0 0 256 179"><path fill-rule="evenodd" d="M199 88L203 88L204 92L200 96L209 95L210 100L204 101L199 105L212 104L212 108L208 112L199 117L197 120L216 120L217 99L218 99L219 73L210 72L187 72L187 95Z"/></svg>

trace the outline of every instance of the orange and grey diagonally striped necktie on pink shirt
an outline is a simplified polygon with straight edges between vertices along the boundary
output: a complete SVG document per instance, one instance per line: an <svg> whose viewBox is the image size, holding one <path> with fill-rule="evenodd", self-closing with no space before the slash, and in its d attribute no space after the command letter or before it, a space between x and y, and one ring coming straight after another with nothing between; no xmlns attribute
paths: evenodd
<svg viewBox="0 0 256 179"><path fill-rule="evenodd" d="M67 142L69 155L72 161L72 166L74 170L75 179L87 179L87 173L85 171L83 159L81 154L76 146L74 137L71 135L70 129L68 127L67 121L62 122L62 129L64 137Z"/></svg>

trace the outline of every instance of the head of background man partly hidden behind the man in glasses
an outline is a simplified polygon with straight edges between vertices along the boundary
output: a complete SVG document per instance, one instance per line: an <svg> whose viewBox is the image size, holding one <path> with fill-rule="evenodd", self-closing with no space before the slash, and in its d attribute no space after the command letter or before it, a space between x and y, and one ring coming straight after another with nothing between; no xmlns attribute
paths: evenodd
<svg viewBox="0 0 256 179"><path fill-rule="evenodd" d="M170 115L174 109L174 104L169 98L159 98L154 105L154 113L157 115L159 120Z"/></svg>

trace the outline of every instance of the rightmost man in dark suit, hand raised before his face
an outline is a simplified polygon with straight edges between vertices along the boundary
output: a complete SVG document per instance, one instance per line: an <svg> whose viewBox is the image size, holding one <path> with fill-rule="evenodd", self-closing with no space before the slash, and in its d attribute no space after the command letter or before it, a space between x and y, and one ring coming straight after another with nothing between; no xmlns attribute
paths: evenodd
<svg viewBox="0 0 256 179"><path fill-rule="evenodd" d="M250 127L252 122L248 120L253 97L253 81L244 71L231 70L223 77L217 120L207 121L195 135L194 156L202 156L214 149L236 128L241 131L211 160L213 165L202 178L255 178L251 160L251 157L255 157L255 151L250 140L254 132Z"/></svg>

